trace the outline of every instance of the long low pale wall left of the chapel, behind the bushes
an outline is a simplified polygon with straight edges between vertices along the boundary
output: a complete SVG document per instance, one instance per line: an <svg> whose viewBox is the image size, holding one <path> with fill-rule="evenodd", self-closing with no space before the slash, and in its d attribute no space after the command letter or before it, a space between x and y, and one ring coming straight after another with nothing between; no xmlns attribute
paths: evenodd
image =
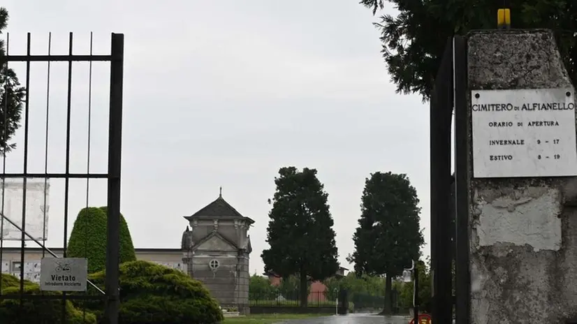
<svg viewBox="0 0 577 324"><path fill-rule="evenodd" d="M20 277L22 263L20 260L19 247L3 247L0 260L1 272L13 274ZM57 256L62 256L61 248L50 248ZM182 249L135 249L136 258L149 262L172 267L187 273L187 265L182 262ZM50 253L45 252L46 258L51 258ZM43 258L42 248L28 247L24 248L24 279L40 282L40 261Z"/></svg>

